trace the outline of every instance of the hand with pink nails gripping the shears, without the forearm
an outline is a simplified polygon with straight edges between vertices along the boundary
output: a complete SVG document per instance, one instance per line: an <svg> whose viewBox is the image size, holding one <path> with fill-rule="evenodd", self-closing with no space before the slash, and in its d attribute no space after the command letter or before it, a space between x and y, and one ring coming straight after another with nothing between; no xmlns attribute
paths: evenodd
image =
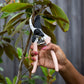
<svg viewBox="0 0 84 84"><path fill-rule="evenodd" d="M33 49L33 46L31 46L31 49ZM32 60L35 61L36 59L34 56L38 54L38 65L54 69L55 67L52 60L52 56L50 54L50 50L54 50L58 59L59 70L63 70L65 64L67 63L67 58L62 49L58 45L52 43L48 44L48 46L46 47L40 46L39 52L31 51L31 55L33 56Z"/></svg>

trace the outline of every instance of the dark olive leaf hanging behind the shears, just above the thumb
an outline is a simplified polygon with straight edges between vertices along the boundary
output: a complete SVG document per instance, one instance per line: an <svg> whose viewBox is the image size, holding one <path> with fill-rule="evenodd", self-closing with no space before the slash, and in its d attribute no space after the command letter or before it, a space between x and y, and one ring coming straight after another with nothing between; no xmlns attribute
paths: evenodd
<svg viewBox="0 0 84 84"><path fill-rule="evenodd" d="M47 28L47 27L45 27L43 25L41 25L41 27L42 27L43 32L51 37L51 42L56 44L56 37L53 34L53 32L49 28Z"/></svg>

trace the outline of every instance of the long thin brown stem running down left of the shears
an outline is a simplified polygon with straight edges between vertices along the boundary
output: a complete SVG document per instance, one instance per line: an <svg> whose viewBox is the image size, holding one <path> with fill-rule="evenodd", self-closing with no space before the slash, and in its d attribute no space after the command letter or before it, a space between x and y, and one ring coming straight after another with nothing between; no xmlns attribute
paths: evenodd
<svg viewBox="0 0 84 84"><path fill-rule="evenodd" d="M19 64L19 70L18 70L18 75L17 75L17 80L16 80L16 83L15 84L18 84L20 78L21 78L21 72L22 72L22 65L23 65L23 61L24 61L24 57L26 55L26 52L27 52L27 48L28 48L28 45L29 45L29 42L30 42L30 38L31 38L31 35L32 35L32 32L30 30L30 34L29 34L29 37L27 39L27 44L25 46L25 50L23 52L23 55L22 55L22 58L20 60L20 64Z"/></svg>

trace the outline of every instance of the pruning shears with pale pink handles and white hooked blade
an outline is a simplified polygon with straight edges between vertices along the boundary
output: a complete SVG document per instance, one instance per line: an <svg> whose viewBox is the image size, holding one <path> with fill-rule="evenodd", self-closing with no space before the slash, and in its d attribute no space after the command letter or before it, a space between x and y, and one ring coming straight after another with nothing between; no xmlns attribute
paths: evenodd
<svg viewBox="0 0 84 84"><path fill-rule="evenodd" d="M51 38L45 34L41 28L35 28L32 24L32 15L29 19L29 25L30 25L30 29L33 32L33 37L32 37L32 43L33 43L33 50L34 51L38 51L38 45L40 44L49 44L51 43ZM40 39L39 39L40 38ZM58 61L57 61L57 57L56 54L53 50L51 50L51 55L52 55L52 59L54 62L54 66L55 66L55 71L59 71L58 68ZM36 61L34 62L33 65L33 69L32 69L32 73L36 72L37 69L37 63L38 63L38 55L35 56Z"/></svg>

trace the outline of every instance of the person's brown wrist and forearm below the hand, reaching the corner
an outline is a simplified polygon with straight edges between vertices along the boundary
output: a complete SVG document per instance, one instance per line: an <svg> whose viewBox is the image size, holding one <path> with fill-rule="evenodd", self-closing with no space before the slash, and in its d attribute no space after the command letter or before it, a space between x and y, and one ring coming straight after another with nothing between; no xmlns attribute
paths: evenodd
<svg viewBox="0 0 84 84"><path fill-rule="evenodd" d="M84 77L74 68L68 59L59 73L67 84L84 84Z"/></svg>

